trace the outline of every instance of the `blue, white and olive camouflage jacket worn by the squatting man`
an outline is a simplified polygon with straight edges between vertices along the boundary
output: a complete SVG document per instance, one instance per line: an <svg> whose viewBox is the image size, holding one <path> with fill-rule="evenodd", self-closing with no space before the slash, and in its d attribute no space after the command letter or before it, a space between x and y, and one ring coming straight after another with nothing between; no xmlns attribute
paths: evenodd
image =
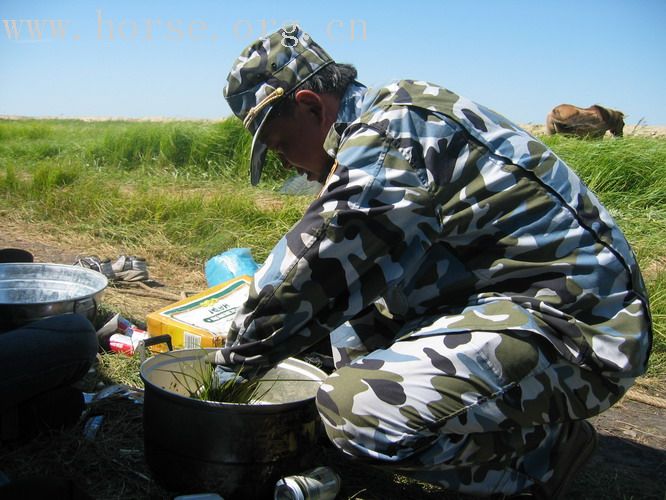
<svg viewBox="0 0 666 500"><path fill-rule="evenodd" d="M336 166L257 272L227 362L274 364L339 327L389 342L517 329L608 376L645 371L633 253L543 143L444 88L400 81L353 85L324 147Z"/></svg>

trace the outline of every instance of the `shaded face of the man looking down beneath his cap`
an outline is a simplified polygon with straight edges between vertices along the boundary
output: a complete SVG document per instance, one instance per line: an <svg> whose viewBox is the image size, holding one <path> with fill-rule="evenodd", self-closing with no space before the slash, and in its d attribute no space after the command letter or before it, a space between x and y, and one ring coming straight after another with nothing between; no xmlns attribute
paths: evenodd
<svg viewBox="0 0 666 500"><path fill-rule="evenodd" d="M323 181L333 159L324 151L324 140L332 124L334 110L323 113L311 102L296 100L286 113L269 118L260 139L275 152L284 167L293 167L308 180Z"/></svg>

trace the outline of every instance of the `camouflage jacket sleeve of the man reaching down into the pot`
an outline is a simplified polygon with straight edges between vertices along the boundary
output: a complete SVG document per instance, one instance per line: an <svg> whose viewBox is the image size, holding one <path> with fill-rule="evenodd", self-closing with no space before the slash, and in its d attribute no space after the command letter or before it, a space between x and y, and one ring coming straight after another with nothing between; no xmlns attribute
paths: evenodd
<svg viewBox="0 0 666 500"><path fill-rule="evenodd" d="M273 365L373 304L417 265L438 220L423 179L381 131L343 136L322 194L257 272L221 356Z"/></svg>

